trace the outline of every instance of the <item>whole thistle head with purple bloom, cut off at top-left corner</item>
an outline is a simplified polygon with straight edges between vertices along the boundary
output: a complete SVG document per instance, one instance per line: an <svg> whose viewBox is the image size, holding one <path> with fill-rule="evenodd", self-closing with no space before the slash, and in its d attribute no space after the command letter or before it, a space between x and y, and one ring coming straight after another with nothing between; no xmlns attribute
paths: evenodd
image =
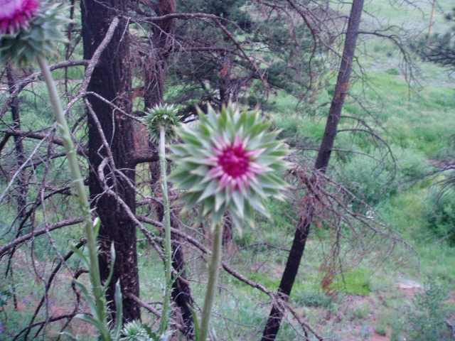
<svg viewBox="0 0 455 341"><path fill-rule="evenodd" d="M59 16L60 4L36 0L0 0L0 67L34 63L36 57L56 55L55 43L67 43L57 26L70 23Z"/></svg>

